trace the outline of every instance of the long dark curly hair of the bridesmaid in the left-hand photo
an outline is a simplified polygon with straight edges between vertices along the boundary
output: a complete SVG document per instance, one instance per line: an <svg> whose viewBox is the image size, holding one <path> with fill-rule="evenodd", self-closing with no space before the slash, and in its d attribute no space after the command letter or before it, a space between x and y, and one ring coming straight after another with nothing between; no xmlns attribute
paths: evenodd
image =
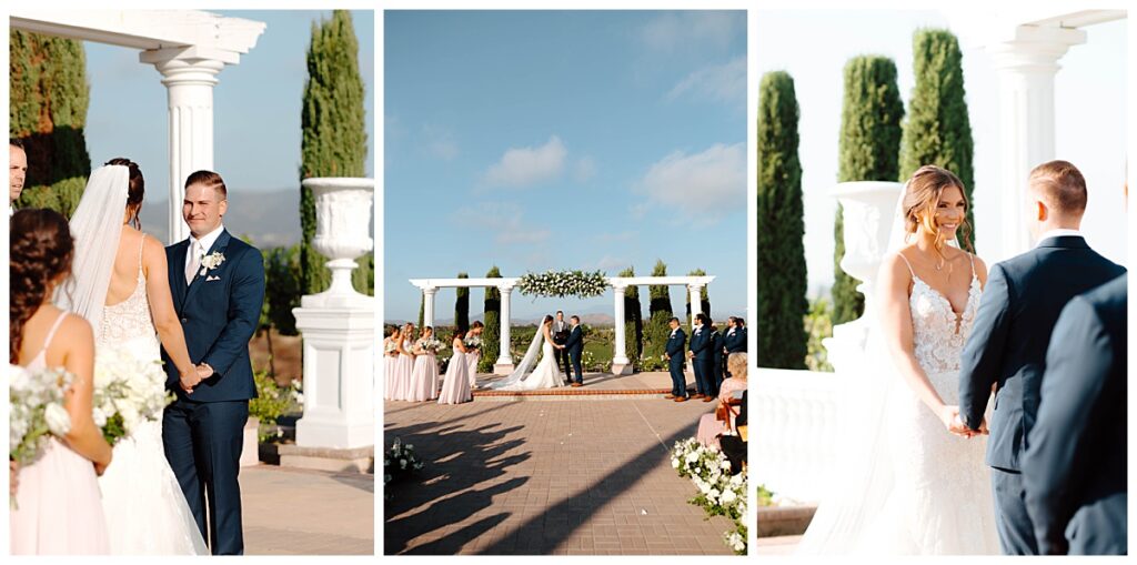
<svg viewBox="0 0 1137 565"><path fill-rule="evenodd" d="M75 243L67 218L47 208L17 211L8 235L8 362L16 364L24 324L43 304L50 283L70 273Z"/></svg>

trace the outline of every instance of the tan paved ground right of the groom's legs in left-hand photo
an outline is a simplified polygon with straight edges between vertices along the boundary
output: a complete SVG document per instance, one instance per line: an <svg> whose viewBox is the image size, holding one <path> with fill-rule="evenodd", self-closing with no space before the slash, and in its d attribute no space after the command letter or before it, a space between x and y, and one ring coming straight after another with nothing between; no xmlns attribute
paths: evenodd
<svg viewBox="0 0 1137 565"><path fill-rule="evenodd" d="M259 465L241 470L248 555L374 555L375 477Z"/></svg>

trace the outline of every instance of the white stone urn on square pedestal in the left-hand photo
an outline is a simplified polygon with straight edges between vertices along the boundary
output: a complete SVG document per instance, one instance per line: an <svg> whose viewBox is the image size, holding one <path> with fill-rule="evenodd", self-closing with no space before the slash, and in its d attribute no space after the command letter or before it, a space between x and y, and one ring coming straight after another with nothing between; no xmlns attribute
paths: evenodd
<svg viewBox="0 0 1137 565"><path fill-rule="evenodd" d="M374 444L375 299L351 288L355 259L371 238L373 178L306 178L316 203L317 251L329 258L331 286L294 308L304 336L304 417L296 424L301 450L350 450Z"/></svg>

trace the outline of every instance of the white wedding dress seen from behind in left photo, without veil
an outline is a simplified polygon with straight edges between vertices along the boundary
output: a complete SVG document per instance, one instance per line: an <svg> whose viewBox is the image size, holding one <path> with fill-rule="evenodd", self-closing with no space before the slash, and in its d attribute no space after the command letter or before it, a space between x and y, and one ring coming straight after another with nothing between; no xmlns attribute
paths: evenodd
<svg viewBox="0 0 1137 565"><path fill-rule="evenodd" d="M146 294L141 250L138 285L126 300L107 306L96 341L140 359L161 363L160 344ZM165 389L158 381L153 387ZM114 458L99 477L111 555L209 555L185 495L166 462L161 421L139 426L115 444Z"/></svg>

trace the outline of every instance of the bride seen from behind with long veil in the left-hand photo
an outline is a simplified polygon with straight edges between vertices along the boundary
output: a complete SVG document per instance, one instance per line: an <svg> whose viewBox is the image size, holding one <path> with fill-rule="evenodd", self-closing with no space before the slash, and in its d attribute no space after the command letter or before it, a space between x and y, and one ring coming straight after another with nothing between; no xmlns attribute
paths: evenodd
<svg viewBox="0 0 1137 565"><path fill-rule="evenodd" d="M138 219L143 192L142 173L127 159L91 174L70 219L74 280L56 301L91 323L97 364L99 352L111 348L161 363L160 338L189 377L194 367L169 293L166 251ZM165 390L166 383L153 387ZM122 438L114 460L99 477L111 555L209 554L166 462L160 418Z"/></svg>

